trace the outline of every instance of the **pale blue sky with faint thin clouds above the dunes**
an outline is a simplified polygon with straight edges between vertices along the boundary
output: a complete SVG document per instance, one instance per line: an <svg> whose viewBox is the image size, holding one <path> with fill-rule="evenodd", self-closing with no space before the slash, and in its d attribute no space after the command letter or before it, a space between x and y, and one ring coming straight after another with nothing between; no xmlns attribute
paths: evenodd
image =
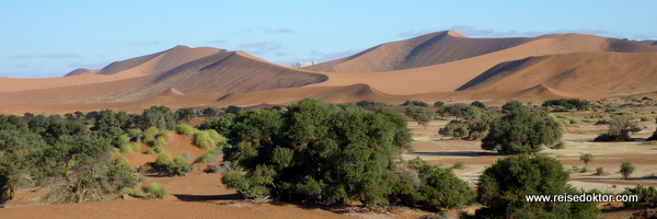
<svg viewBox="0 0 657 219"><path fill-rule="evenodd" d="M0 76L61 77L176 45L289 66L454 30L469 37L581 33L657 39L654 0L0 0Z"/></svg>

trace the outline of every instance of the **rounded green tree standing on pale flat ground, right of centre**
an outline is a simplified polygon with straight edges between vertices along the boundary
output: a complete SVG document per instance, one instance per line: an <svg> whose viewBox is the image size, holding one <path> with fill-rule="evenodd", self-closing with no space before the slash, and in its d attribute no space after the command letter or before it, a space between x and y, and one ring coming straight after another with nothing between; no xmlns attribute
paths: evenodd
<svg viewBox="0 0 657 219"><path fill-rule="evenodd" d="M533 153L558 142L561 131L561 124L546 112L520 106L493 120L491 131L482 139L482 149L505 154Z"/></svg>

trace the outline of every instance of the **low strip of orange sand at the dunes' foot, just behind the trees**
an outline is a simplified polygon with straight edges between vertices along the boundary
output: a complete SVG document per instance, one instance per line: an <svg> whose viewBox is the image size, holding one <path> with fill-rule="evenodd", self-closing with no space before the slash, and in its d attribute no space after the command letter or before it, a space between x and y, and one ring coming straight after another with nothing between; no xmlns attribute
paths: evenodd
<svg viewBox="0 0 657 219"><path fill-rule="evenodd" d="M277 89L270 91L258 91L251 93L206 93L206 94L183 94L175 89L170 89L155 96L135 101L117 103L94 103L94 104L54 104L54 105L31 105L0 107L0 113L22 115L25 112L41 113L72 113L74 111L90 112L111 108L114 111L125 111L129 113L141 113L145 108L153 105L166 105L172 110L182 107L226 107L237 105L242 107L272 107L274 105L288 105L306 97L315 97L330 103L356 103L358 101L373 101L392 105L397 105L406 100L423 100L426 102L443 101L450 103L470 103L479 100L492 104L504 104L510 100L535 101L541 102L554 99L587 99L597 100L600 96L568 93L550 89L543 85L526 90L508 91L448 91L411 95L391 95L380 92L367 84L354 84L346 87L304 87Z"/></svg>

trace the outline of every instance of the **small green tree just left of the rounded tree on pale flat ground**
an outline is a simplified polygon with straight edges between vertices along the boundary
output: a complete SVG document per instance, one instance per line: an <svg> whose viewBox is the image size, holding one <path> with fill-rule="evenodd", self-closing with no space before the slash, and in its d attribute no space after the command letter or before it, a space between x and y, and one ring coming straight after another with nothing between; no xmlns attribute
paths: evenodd
<svg viewBox="0 0 657 219"><path fill-rule="evenodd" d="M461 118L450 120L438 134L464 140L479 140L488 134L493 120L491 112L476 106L464 106L459 107L457 114Z"/></svg>

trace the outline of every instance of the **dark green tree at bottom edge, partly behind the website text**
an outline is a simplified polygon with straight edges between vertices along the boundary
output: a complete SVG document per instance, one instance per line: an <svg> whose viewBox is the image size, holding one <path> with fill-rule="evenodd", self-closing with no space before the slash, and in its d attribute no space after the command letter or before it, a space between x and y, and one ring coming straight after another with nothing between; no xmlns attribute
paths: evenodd
<svg viewBox="0 0 657 219"><path fill-rule="evenodd" d="M578 194L568 173L546 155L510 155L484 170L477 186L481 218L597 218L596 203L527 201L529 195Z"/></svg>

